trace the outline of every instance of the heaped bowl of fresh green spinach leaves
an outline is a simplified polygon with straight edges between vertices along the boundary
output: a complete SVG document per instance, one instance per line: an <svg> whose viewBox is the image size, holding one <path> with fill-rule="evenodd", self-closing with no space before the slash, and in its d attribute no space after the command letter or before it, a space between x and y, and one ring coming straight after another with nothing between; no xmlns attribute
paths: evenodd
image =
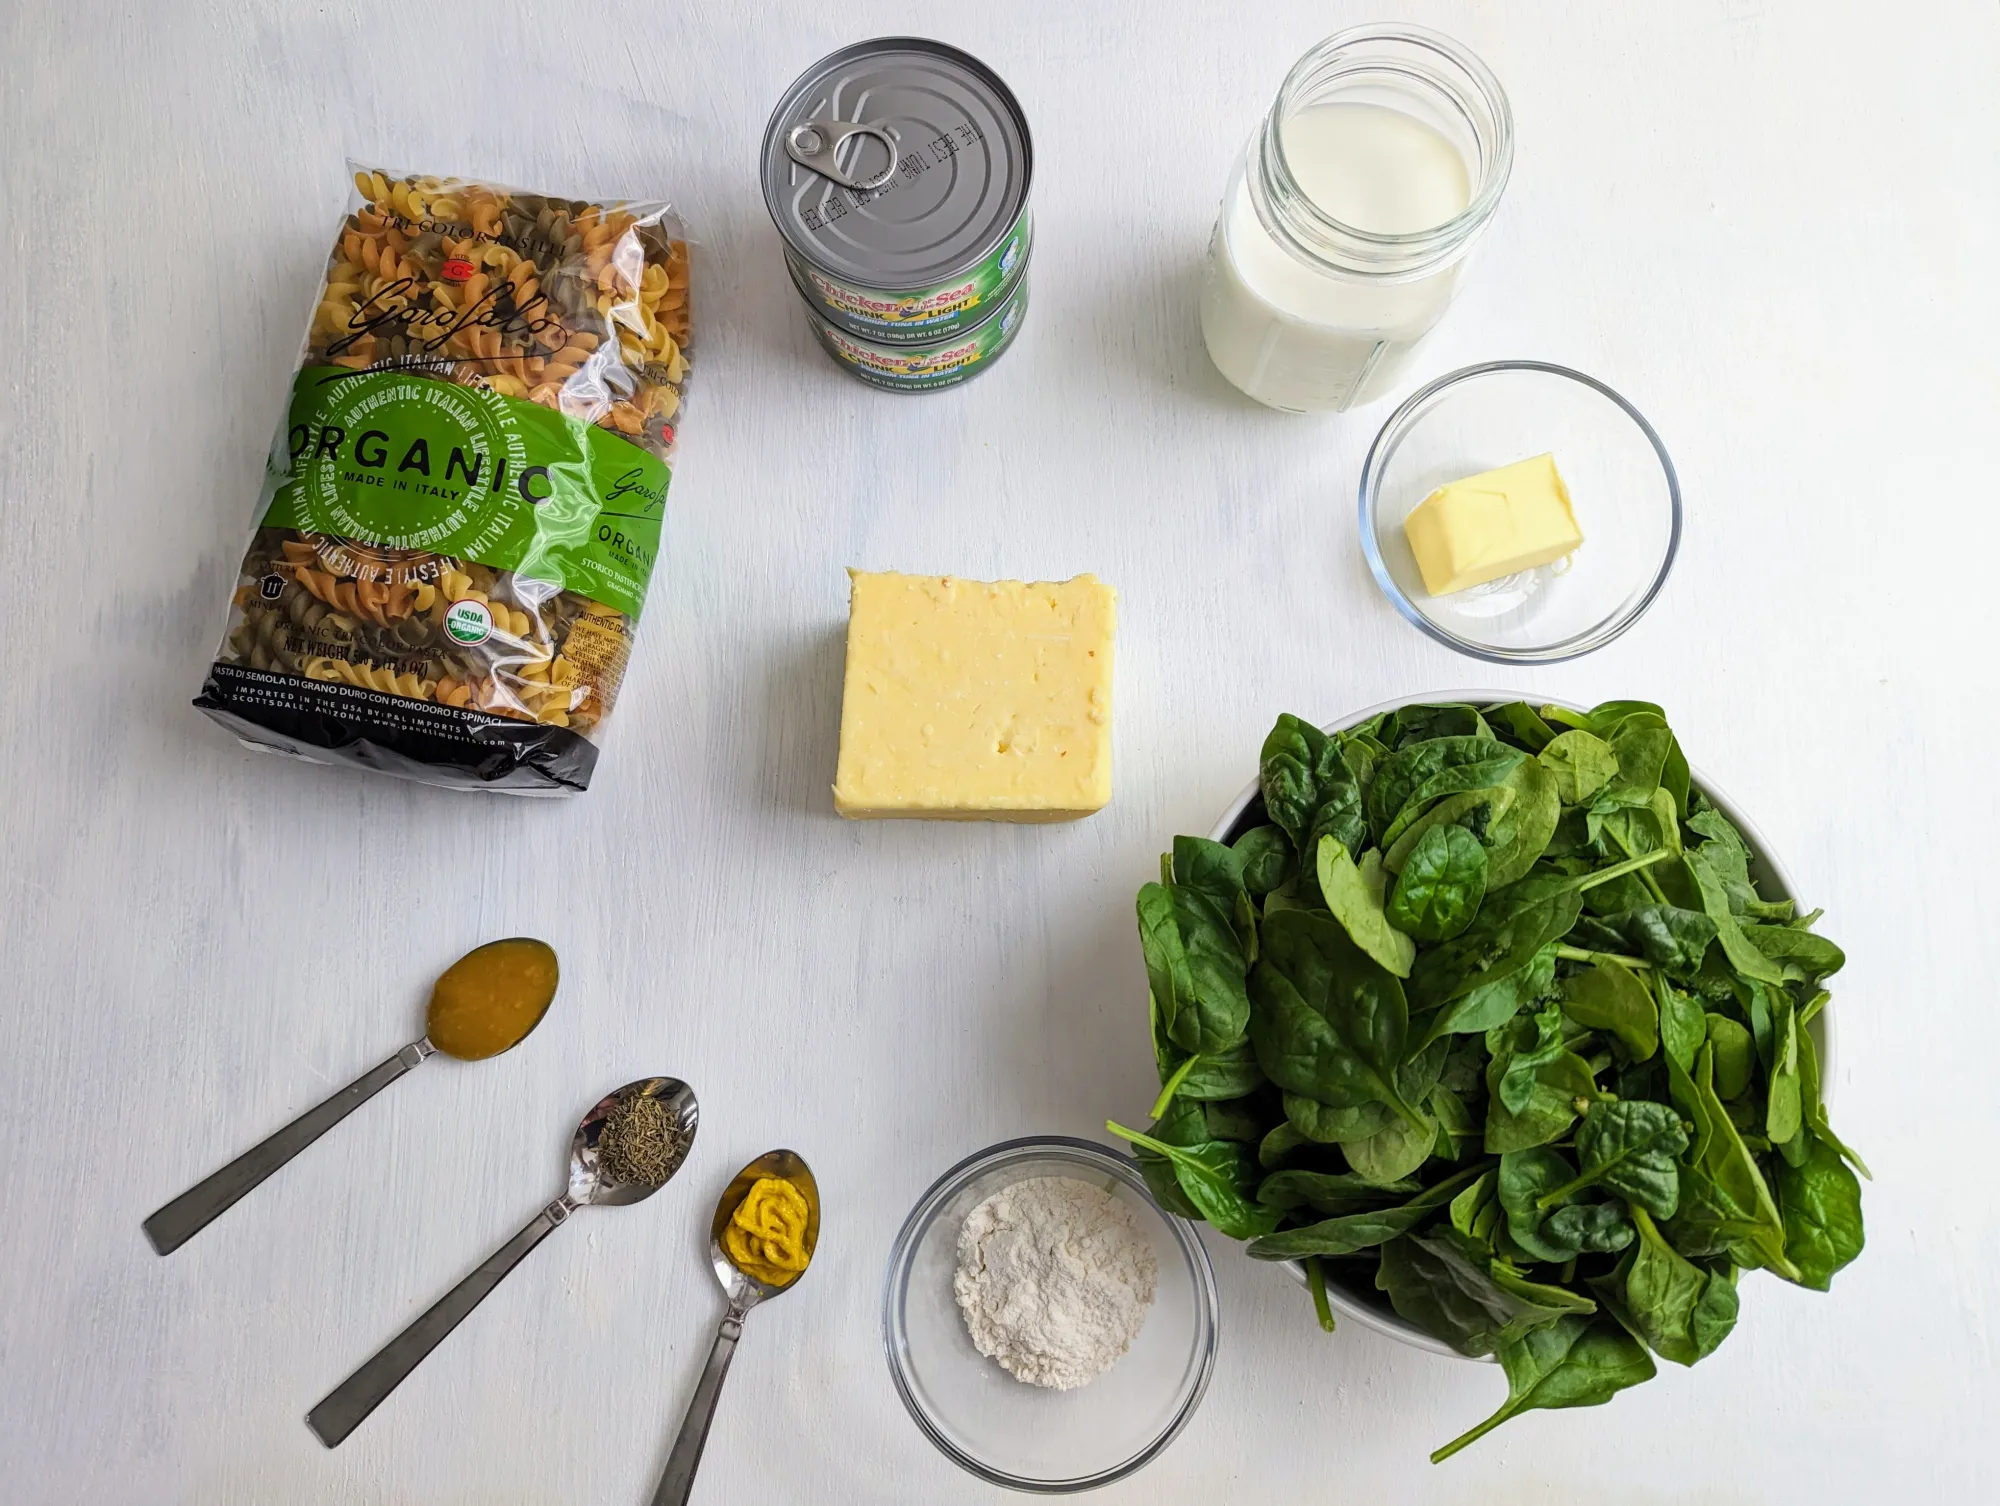
<svg viewBox="0 0 2000 1506"><path fill-rule="evenodd" d="M1444 1460L1706 1358L1748 1272L1860 1254L1816 922L1648 702L1280 716L1138 892L1160 1096L1108 1128L1328 1332L1498 1360Z"/></svg>

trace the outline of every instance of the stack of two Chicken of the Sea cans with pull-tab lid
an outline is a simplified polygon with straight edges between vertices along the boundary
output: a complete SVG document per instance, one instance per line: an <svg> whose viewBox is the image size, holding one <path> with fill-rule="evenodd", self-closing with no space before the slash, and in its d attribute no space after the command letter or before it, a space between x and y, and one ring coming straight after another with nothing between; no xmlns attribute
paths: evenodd
<svg viewBox="0 0 2000 1506"><path fill-rule="evenodd" d="M1028 310L1032 170L1012 90L956 48L878 38L806 70L764 128L764 204L826 354L888 392L992 366Z"/></svg>

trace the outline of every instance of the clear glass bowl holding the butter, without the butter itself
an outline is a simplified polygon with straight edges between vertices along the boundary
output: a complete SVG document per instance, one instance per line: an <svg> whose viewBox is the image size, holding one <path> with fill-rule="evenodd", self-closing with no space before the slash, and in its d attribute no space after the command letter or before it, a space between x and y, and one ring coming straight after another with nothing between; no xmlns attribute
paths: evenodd
<svg viewBox="0 0 2000 1506"><path fill-rule="evenodd" d="M1554 454L1584 544L1568 560L1430 596L1402 520L1446 482ZM1644 414L1540 360L1494 360L1418 388L1362 466L1360 540L1398 612L1488 664L1556 664L1604 648L1652 606L1680 548L1680 480Z"/></svg>

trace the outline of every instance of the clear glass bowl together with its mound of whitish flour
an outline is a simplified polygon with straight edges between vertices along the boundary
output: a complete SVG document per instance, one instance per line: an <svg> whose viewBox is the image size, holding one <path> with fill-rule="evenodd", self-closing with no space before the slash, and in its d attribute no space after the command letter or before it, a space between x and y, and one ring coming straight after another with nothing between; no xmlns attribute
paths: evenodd
<svg viewBox="0 0 2000 1506"><path fill-rule="evenodd" d="M992 1484L1120 1480L1194 1416L1216 1364L1216 1280L1194 1226L1090 1140L968 1156L896 1236L888 1368L916 1426Z"/></svg>

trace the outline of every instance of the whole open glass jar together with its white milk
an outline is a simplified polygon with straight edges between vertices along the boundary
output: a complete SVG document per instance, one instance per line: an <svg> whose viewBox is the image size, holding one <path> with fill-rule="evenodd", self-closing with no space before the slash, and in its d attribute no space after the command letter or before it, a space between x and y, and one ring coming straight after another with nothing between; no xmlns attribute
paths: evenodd
<svg viewBox="0 0 2000 1506"><path fill-rule="evenodd" d="M1222 194L1202 282L1216 368L1292 412L1382 396L1444 318L1512 164L1506 94L1450 38L1358 26L1320 42Z"/></svg>

